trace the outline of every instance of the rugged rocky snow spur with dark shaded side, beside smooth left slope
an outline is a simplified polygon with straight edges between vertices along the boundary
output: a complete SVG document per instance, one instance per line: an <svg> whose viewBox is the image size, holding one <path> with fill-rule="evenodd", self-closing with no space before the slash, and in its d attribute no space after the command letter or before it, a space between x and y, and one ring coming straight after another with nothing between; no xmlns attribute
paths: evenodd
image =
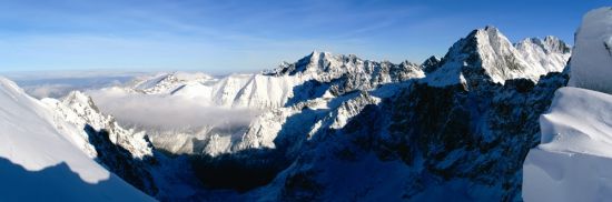
<svg viewBox="0 0 612 202"><path fill-rule="evenodd" d="M79 91L71 92L62 101L43 99L42 102L53 110L52 123L58 131L83 138L83 151L90 158L141 191L157 194L150 171L157 160L145 132L120 127L112 117L100 113L90 97Z"/></svg>

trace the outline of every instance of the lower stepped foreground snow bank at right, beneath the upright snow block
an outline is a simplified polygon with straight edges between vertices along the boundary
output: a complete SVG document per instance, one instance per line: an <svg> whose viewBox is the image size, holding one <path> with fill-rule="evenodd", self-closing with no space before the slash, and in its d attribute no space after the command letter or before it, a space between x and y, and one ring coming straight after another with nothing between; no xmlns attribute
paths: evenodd
<svg viewBox="0 0 612 202"><path fill-rule="evenodd" d="M612 199L612 95L559 89L523 164L525 201Z"/></svg>

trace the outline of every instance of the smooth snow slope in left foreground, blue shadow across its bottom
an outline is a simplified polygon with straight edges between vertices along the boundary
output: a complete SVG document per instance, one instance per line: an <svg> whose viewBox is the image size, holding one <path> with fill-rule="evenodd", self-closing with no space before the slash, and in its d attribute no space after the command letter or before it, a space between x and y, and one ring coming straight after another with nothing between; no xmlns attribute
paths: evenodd
<svg viewBox="0 0 612 202"><path fill-rule="evenodd" d="M0 78L0 201L151 201L61 134L53 112Z"/></svg>

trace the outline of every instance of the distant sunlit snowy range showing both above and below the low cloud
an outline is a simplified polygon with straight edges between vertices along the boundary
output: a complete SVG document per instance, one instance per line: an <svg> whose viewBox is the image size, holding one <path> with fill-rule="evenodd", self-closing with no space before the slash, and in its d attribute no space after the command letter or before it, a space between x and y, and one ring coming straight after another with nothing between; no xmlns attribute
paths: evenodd
<svg viewBox="0 0 612 202"><path fill-rule="evenodd" d="M266 137L274 139L277 132L275 130L278 130L283 122L270 125L268 118L284 119L284 117L276 118L275 114L278 113L277 109L283 107L305 99L332 98L349 91L373 90L385 83L397 83L423 77L422 68L409 62L393 64L362 60L355 55L334 55L314 51L295 63L282 64L265 73L233 74L225 78L214 78L203 73L162 73L141 78L127 87L102 89L95 98L120 93L126 97L155 97L214 108L264 111L264 114L251 123L253 125L245 123L235 125L231 130L223 129L226 125L219 124L186 130L149 130L154 144L166 151L177 154L216 155L247 148L259 148L259 144L269 147L270 139L267 142L260 142L261 140L250 140L249 137L265 133ZM326 104L325 102L322 104ZM265 125L257 125L258 123ZM246 130L258 127L263 128L258 131L259 134L253 134L257 132L256 130ZM247 137L244 141L240 140L243 135ZM250 145L251 143L255 145Z"/></svg>

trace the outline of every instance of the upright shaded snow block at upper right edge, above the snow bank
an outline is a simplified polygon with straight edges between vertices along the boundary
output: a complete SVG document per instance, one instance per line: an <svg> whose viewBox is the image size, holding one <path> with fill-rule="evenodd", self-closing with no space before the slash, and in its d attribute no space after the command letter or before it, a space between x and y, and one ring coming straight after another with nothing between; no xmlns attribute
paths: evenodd
<svg viewBox="0 0 612 202"><path fill-rule="evenodd" d="M612 7L584 16L570 65L571 87L612 93Z"/></svg>

